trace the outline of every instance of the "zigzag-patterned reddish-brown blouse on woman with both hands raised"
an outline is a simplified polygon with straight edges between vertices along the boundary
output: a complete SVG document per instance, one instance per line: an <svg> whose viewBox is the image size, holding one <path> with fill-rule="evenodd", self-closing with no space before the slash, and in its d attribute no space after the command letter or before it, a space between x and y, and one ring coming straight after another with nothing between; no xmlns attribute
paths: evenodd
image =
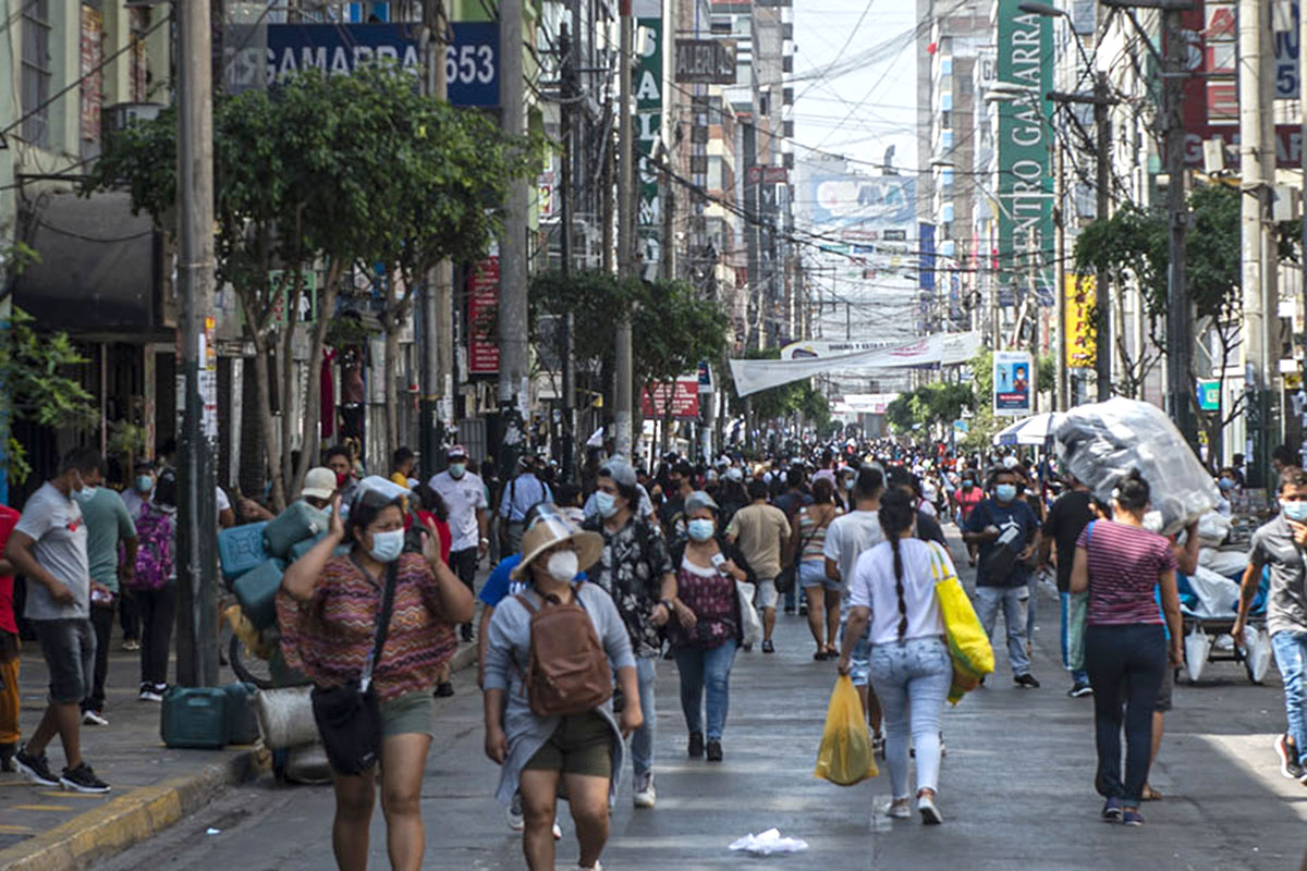
<svg viewBox="0 0 1307 871"><path fill-rule="evenodd" d="M277 624L286 665L302 670L319 687L357 679L372 650L384 580L372 580L349 556L332 556L308 601L278 592ZM404 554L391 628L372 669L378 697L387 701L430 689L456 648L454 624L440 615L431 567L418 554Z"/></svg>

